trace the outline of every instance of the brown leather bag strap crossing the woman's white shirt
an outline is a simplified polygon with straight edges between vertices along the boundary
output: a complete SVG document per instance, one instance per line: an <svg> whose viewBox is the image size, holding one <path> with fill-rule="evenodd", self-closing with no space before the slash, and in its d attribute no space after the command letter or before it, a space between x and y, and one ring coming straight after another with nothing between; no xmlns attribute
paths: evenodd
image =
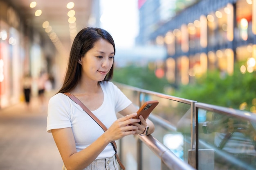
<svg viewBox="0 0 256 170"><path fill-rule="evenodd" d="M73 94L69 93L69 92L65 92L63 93L66 96L68 96L71 100L73 100L76 104L78 104L80 107L82 107L82 109L95 121L97 122L97 124L99 124L99 126L101 126L101 128L103 129L103 131L107 131L108 128L92 113L92 111L90 111L90 109L88 109L88 107L86 107L78 98L76 98L76 96L74 96ZM121 163L121 160L119 158L119 156L117 155L117 144L115 141L111 142L114 150L115 150L115 157L117 159L117 162L119 163L120 167L125 170L124 165Z"/></svg>

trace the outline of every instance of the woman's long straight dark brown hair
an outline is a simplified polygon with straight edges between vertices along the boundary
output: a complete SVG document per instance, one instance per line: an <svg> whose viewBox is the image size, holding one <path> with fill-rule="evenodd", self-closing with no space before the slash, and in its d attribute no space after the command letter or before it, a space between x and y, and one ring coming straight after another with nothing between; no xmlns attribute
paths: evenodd
<svg viewBox="0 0 256 170"><path fill-rule="evenodd" d="M81 78L82 70L82 66L78 63L78 60L81 58L81 56L84 56L86 52L92 49L94 47L95 42L99 39L105 39L110 44L112 44L114 52L116 53L115 42L110 33L108 33L106 30L102 28L83 28L81 31L79 31L79 33L76 35L73 41L70 50L70 58L67 65L65 79L58 93L69 92L77 85ZM111 80L114 70L113 66L114 63L103 81Z"/></svg>

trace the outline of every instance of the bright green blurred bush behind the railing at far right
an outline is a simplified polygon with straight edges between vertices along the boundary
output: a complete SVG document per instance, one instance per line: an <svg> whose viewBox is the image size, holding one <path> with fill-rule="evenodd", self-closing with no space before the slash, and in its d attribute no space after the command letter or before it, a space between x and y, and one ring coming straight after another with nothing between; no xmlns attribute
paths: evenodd
<svg viewBox="0 0 256 170"><path fill-rule="evenodd" d="M256 107L256 73L242 74L239 67L234 68L232 76L211 71L193 84L180 86L173 96L251 111Z"/></svg>

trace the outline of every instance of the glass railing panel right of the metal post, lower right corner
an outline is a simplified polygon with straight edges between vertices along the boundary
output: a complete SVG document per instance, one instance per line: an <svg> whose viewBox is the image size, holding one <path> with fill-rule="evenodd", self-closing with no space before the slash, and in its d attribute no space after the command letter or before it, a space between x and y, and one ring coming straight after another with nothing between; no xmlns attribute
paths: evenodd
<svg viewBox="0 0 256 170"><path fill-rule="evenodd" d="M256 122L198 109L198 169L255 170Z"/></svg>

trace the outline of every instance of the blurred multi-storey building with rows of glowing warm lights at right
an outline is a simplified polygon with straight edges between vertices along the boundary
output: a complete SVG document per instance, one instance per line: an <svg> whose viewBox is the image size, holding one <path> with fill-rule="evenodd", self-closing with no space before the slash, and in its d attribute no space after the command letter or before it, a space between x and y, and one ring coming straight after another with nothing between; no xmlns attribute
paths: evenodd
<svg viewBox="0 0 256 170"><path fill-rule="evenodd" d="M147 0L143 5L153 2L159 10L173 7L163 0ZM175 2L175 7L182 6L182 0ZM140 7L141 15L144 9ZM256 70L256 0L200 0L172 11L164 20L159 12L158 20L148 26L154 28L149 38L141 42L167 48L170 83L188 84L208 70L232 75L235 63L242 73Z"/></svg>

